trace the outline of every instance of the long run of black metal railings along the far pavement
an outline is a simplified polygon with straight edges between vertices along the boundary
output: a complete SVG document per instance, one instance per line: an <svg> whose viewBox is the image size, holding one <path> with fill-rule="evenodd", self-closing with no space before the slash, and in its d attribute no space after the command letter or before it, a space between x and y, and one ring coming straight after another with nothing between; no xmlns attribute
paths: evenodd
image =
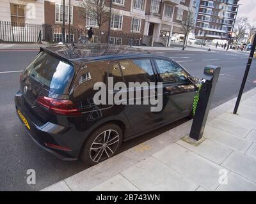
<svg viewBox="0 0 256 204"><path fill-rule="evenodd" d="M79 37L88 37L87 29L65 27L65 39L62 38L60 25L19 24L0 21L0 42L36 43L41 40L50 43L76 43ZM122 33L122 31L94 30L92 43L109 43L114 45L143 45L143 35L138 33Z"/></svg>

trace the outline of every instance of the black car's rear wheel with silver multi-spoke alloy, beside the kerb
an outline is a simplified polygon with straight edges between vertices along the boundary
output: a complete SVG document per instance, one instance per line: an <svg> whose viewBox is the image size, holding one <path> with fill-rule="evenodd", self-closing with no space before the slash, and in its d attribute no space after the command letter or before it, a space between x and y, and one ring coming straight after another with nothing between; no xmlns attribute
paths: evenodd
<svg viewBox="0 0 256 204"><path fill-rule="evenodd" d="M123 139L122 129L116 124L105 124L92 132L83 145L81 159L93 166L115 156Z"/></svg>

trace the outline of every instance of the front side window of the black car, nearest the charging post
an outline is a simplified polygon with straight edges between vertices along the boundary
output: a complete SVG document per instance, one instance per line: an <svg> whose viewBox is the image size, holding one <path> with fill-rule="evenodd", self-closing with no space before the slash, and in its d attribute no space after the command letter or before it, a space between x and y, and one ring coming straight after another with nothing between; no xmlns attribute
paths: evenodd
<svg viewBox="0 0 256 204"><path fill-rule="evenodd" d="M179 64L164 59L155 59L154 61L164 83L186 84L189 82L188 74Z"/></svg>

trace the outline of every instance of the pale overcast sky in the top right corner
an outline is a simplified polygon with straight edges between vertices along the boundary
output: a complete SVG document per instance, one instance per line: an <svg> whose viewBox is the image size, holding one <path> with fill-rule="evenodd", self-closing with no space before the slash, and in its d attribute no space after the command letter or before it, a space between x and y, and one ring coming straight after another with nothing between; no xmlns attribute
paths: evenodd
<svg viewBox="0 0 256 204"><path fill-rule="evenodd" d="M239 6L237 18L248 17L250 24L256 24L256 0L240 0L239 4L243 5Z"/></svg>

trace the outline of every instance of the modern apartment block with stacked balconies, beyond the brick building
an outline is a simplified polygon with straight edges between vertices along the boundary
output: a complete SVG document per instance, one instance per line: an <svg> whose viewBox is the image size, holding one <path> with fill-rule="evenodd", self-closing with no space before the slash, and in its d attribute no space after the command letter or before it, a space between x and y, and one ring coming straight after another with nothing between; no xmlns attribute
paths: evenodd
<svg viewBox="0 0 256 204"><path fill-rule="evenodd" d="M239 0L201 0L196 20L196 38L227 39L236 21Z"/></svg>

